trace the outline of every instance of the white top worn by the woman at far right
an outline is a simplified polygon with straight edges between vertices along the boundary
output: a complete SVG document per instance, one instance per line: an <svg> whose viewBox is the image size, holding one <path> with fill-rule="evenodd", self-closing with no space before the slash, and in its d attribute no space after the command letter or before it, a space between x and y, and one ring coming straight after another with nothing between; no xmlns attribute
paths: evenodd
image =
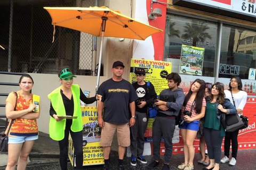
<svg viewBox="0 0 256 170"><path fill-rule="evenodd" d="M230 100L231 104L234 105L233 99L232 99L232 96L231 96L231 91L224 90L224 92L225 92L226 98L228 98ZM246 100L247 100L247 93L245 91L240 90L238 93L233 94L233 97L234 97L236 108L239 108L239 109L243 110L244 106L246 104ZM241 114L239 114L239 116L240 115Z"/></svg>

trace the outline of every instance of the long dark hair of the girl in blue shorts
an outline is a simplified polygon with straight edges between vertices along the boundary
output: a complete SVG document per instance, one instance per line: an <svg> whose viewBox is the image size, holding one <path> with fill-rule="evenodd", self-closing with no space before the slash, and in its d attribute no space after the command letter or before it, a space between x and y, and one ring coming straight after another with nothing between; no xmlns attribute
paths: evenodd
<svg viewBox="0 0 256 170"><path fill-rule="evenodd" d="M197 82L199 83L201 86L196 94L196 98L195 98L195 111L196 113L201 113L201 109L202 109L202 104L203 104L203 99L204 99L204 94L205 94L205 81L204 80L201 80L201 79L196 79L190 86L190 89L188 91L188 94L186 95L185 97L185 100L184 100L184 103L183 103L183 106L186 107L187 103L188 103L188 100L190 98L190 96L192 95L192 91L191 91L191 87L192 85Z"/></svg>

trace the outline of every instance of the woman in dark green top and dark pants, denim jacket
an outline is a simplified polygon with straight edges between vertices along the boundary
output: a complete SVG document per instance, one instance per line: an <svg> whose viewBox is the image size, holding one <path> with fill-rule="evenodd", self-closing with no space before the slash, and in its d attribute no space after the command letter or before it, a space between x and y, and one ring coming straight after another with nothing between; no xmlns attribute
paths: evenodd
<svg viewBox="0 0 256 170"><path fill-rule="evenodd" d="M225 99L223 84L217 82L212 85L210 97L206 97L206 111L204 116L204 138L210 158L210 165L203 170L219 170L221 159L221 144L225 137L225 129L220 122L221 114L236 114L236 108Z"/></svg>

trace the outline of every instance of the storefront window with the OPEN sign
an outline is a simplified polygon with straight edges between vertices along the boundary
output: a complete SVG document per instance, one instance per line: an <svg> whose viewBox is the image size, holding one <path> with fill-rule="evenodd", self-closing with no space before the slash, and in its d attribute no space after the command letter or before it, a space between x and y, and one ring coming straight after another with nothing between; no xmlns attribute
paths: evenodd
<svg viewBox="0 0 256 170"><path fill-rule="evenodd" d="M248 79L250 69L256 69L255 36L255 30L223 24L219 78Z"/></svg>

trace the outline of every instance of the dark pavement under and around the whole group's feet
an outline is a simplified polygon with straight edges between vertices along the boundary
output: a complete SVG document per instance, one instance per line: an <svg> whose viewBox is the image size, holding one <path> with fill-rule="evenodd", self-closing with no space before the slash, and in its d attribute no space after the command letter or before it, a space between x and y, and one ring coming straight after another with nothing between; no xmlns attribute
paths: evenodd
<svg viewBox="0 0 256 170"><path fill-rule="evenodd" d="M114 146L116 147L116 146ZM5 169L5 165L7 163L7 153L0 152L0 169ZM237 157L237 165L236 166L230 166L228 163L221 164L222 170L228 170L228 169L253 169L256 170L256 162L255 162L255 156L256 156L256 149L250 149L250 150L239 150L238 151L238 157ZM28 164L27 169L40 169L42 166L54 166L54 169L60 169L59 167L59 145L57 141L54 141L50 139L48 134L45 133L39 133L39 139L36 140L35 145L31 151L30 154L30 162ZM146 156L145 157L148 161L148 163L151 162L152 156ZM111 151L111 169L117 169L117 159L118 159L118 153L117 151ZM170 169L178 169L177 166L183 162L184 156L182 154L180 155L173 155L171 158L171 164ZM194 159L194 169L202 169L203 165L198 164L197 160L201 159L200 154L195 154ZM49 165L47 165L49 164ZM147 169L146 165L138 163L136 167L133 167L130 165L130 158L125 157L124 158L124 166L125 169ZM162 169L163 161L161 161L160 165L155 169ZM97 166L84 166L84 169L101 169L101 165ZM49 167L51 169L51 167ZM71 164L69 163L69 169L73 169L71 167Z"/></svg>

